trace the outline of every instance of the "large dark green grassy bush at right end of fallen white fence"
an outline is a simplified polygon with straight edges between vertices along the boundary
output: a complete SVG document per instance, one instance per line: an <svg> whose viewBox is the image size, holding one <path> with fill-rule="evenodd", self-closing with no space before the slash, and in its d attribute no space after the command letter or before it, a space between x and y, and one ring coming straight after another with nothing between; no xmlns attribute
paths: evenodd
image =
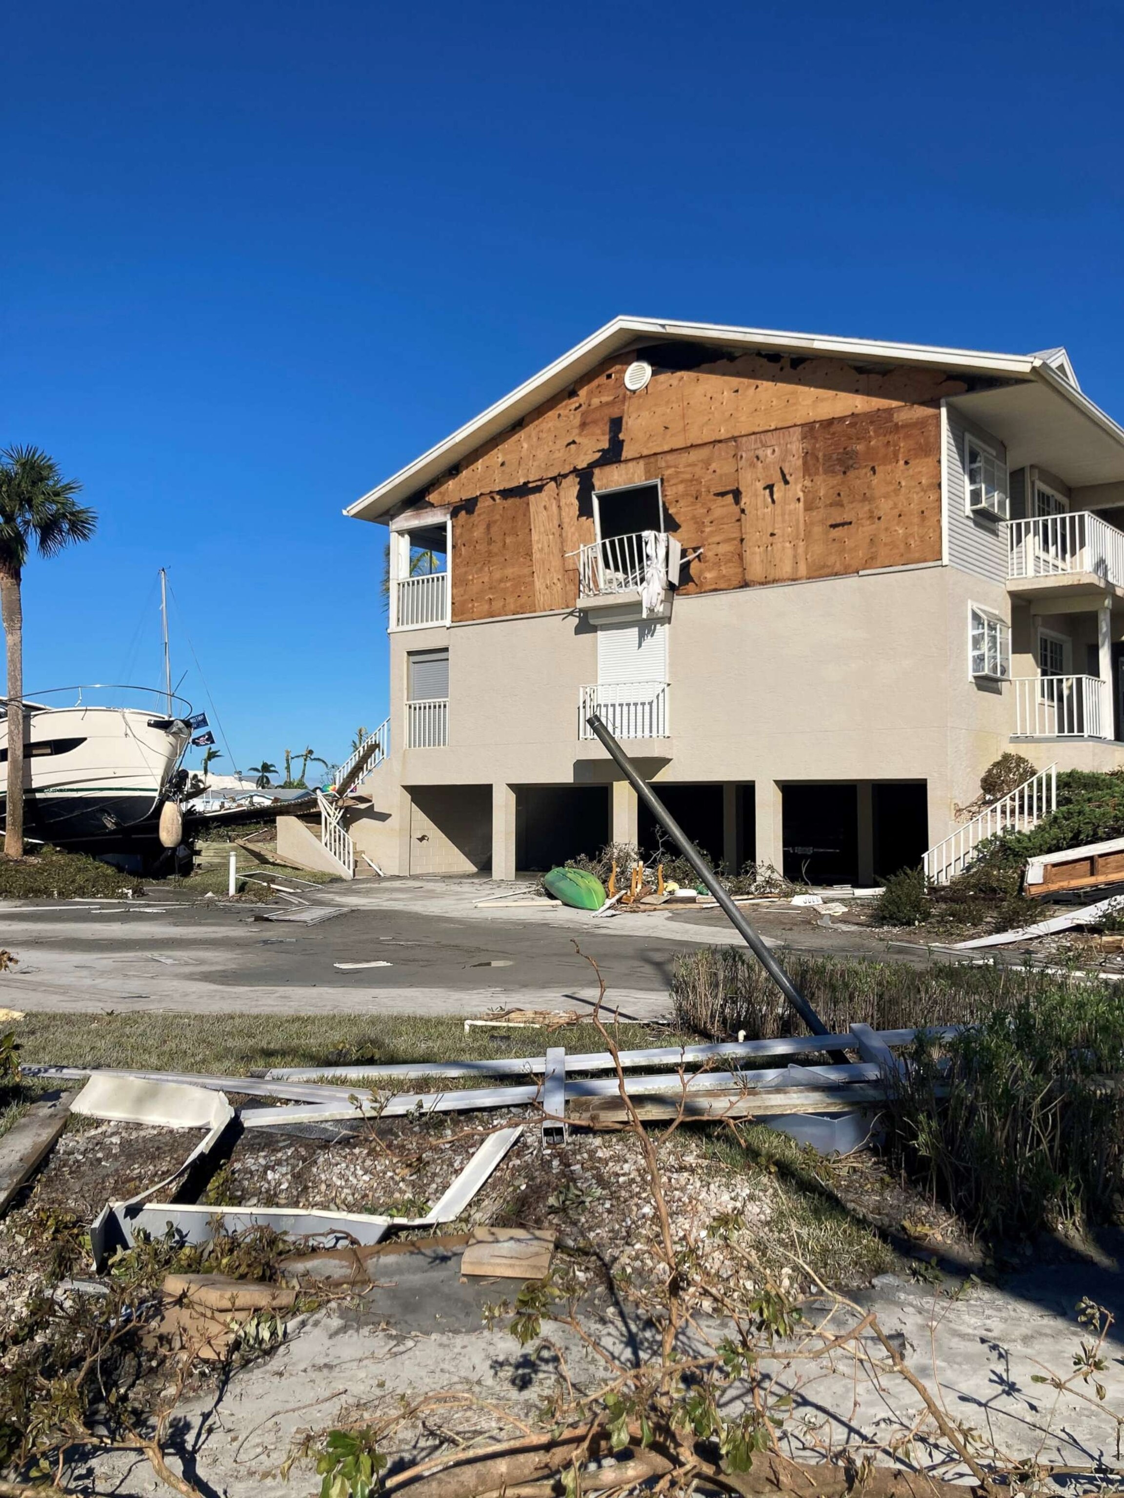
<svg viewBox="0 0 1124 1498"><path fill-rule="evenodd" d="M916 1046L890 1107L904 1167L994 1237L1124 1221L1124 1008L1108 984L1028 986L941 1050Z"/></svg>

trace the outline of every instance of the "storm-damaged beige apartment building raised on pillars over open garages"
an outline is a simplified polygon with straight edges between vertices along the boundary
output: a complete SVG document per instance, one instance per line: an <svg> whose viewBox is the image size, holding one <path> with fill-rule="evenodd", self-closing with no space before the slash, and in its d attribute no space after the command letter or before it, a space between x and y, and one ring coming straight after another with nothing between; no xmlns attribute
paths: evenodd
<svg viewBox="0 0 1124 1498"><path fill-rule="evenodd" d="M593 710L712 858L820 884L1004 750L1124 764L1124 430L1064 349L619 318L346 514L390 533L357 872L653 848Z"/></svg>

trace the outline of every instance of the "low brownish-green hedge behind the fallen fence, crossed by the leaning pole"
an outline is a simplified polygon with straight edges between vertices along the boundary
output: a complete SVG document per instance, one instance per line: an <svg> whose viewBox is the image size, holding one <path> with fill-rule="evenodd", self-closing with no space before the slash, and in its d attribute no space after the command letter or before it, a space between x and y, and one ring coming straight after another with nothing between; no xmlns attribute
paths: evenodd
<svg viewBox="0 0 1124 1498"><path fill-rule="evenodd" d="M967 1025L1058 986L1057 978L1024 968L913 968L793 953L782 962L824 1025L836 1032L856 1020L874 1029ZM679 1029L709 1040L733 1040L740 1031L746 1040L806 1034L764 968L739 947L680 953L671 969L671 1008Z"/></svg>

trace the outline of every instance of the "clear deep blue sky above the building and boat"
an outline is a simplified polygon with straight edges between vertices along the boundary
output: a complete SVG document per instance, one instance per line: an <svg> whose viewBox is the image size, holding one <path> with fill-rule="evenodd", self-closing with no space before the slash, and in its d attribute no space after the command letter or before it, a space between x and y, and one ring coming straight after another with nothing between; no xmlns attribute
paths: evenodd
<svg viewBox="0 0 1124 1498"><path fill-rule="evenodd" d="M1123 43L1115 0L16 6L0 445L100 515L28 566L28 689L156 680L165 565L234 762L342 756L387 710L342 506L620 312L1066 343L1121 418Z"/></svg>

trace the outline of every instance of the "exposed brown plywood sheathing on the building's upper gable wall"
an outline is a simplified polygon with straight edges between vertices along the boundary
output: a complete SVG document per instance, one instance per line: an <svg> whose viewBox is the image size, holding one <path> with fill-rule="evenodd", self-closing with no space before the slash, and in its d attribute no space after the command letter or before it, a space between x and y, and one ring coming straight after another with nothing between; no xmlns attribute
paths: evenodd
<svg viewBox="0 0 1124 1498"><path fill-rule="evenodd" d="M637 351L495 437L438 484L453 506L453 619L577 602L593 490L662 481L668 529L703 548L682 592L940 559L940 400L962 382L839 360ZM418 497L411 502L417 508Z"/></svg>

